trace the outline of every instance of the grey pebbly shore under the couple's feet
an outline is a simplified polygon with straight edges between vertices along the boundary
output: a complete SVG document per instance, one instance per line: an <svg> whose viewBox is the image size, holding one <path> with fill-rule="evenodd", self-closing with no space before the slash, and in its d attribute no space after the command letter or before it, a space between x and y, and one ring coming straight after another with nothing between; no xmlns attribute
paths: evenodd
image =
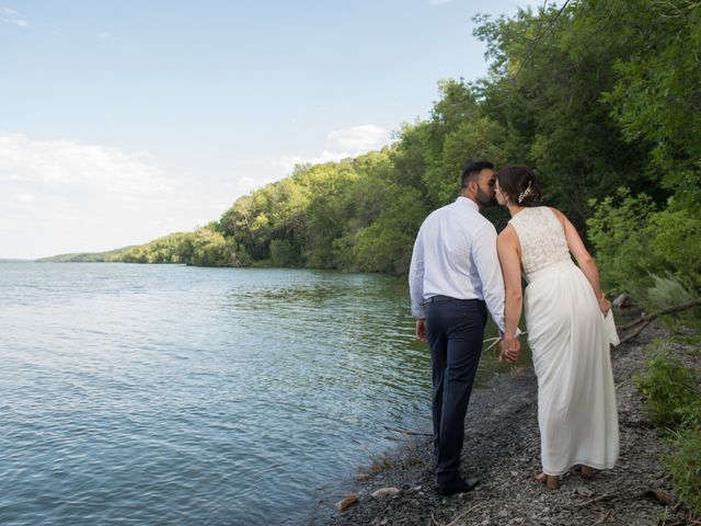
<svg viewBox="0 0 701 526"><path fill-rule="evenodd" d="M494 378L490 388L475 392L470 403L462 472L480 478L475 491L438 495L433 485L430 438L406 435L405 445L395 456L361 469L350 492L343 490L321 501L307 524L687 524L662 467L665 446L632 380L644 369L654 339L668 341L669 334L651 325L635 342L612 351L621 438L614 469L596 472L593 480L568 473L556 491L536 482L540 469L537 385L532 368L520 368ZM701 365L698 348L671 343L668 351L689 366L698 369ZM357 502L345 511L335 511L334 505L348 496L346 502Z"/></svg>

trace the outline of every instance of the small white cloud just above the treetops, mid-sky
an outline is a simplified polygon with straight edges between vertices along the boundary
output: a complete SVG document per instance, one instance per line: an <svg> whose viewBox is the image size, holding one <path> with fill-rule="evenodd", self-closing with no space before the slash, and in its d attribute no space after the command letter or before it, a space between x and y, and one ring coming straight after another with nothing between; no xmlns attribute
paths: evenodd
<svg viewBox="0 0 701 526"><path fill-rule="evenodd" d="M374 124L336 129L326 136L324 150L319 156L285 156L279 164L292 170L296 164L320 164L357 157L370 150L379 150L391 141L390 132Z"/></svg>

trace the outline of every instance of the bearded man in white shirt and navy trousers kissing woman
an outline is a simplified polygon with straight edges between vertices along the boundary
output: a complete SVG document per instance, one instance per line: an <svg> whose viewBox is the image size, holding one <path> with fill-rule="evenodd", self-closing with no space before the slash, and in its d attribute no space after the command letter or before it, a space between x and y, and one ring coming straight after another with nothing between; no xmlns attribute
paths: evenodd
<svg viewBox="0 0 701 526"><path fill-rule="evenodd" d="M468 164L457 201L434 210L418 230L409 272L416 338L430 346L436 490L443 495L479 483L459 468L487 309L504 332L496 229L479 211L496 204L494 164Z"/></svg>

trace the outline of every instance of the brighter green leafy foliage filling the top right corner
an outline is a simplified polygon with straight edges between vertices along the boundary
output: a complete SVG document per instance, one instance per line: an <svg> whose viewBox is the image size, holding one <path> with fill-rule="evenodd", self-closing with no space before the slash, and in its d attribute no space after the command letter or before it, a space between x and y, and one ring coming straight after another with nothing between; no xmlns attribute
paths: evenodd
<svg viewBox="0 0 701 526"><path fill-rule="evenodd" d="M611 2L611 11L631 52L613 64L610 113L627 140L650 145L647 170L674 194L674 206L699 210L701 4L633 0Z"/></svg>

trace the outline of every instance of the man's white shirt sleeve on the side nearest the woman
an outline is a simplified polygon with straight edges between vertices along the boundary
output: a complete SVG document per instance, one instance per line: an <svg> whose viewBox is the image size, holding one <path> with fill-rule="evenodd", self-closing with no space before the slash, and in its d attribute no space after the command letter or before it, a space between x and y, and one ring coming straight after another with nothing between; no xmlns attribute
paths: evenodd
<svg viewBox="0 0 701 526"><path fill-rule="evenodd" d="M496 252L496 229L485 224L474 232L472 261L482 283L482 294L494 323L504 333L504 276Z"/></svg>

